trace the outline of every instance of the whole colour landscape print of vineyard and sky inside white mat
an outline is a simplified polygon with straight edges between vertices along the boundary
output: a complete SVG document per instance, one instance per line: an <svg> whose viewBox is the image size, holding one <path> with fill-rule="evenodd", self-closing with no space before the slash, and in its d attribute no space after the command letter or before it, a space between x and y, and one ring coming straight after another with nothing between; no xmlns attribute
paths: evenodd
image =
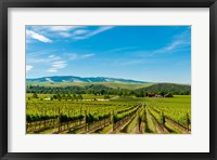
<svg viewBox="0 0 217 160"><path fill-rule="evenodd" d="M191 134L191 26L25 34L26 134Z"/></svg>

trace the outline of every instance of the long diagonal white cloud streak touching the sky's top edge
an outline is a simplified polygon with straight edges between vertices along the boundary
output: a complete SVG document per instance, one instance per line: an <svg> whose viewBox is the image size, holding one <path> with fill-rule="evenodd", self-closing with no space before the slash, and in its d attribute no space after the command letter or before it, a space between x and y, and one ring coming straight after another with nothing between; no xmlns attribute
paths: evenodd
<svg viewBox="0 0 217 160"><path fill-rule="evenodd" d="M86 34L86 35L84 35L84 36L74 37L74 39L76 39L76 40L88 39L88 38L90 38L90 37L92 37L92 36L95 36L95 35L98 35L98 34L100 34L100 32L105 31L105 30L110 30L110 29L112 29L112 28L114 28L114 27L113 27L113 26L103 26L103 27L99 27L99 29L97 29L97 30L89 31L88 34Z"/></svg>

